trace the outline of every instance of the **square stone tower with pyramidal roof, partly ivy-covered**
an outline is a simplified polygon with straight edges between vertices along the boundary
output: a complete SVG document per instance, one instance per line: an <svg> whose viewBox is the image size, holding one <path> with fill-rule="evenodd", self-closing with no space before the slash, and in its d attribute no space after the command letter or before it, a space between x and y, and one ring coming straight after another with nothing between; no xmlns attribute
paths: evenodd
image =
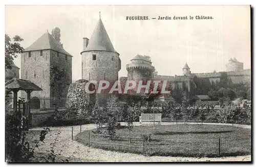
<svg viewBox="0 0 256 167"><path fill-rule="evenodd" d="M69 85L72 82L72 56L57 44L47 31L34 43L25 49L21 55L21 79L29 80L42 88L42 91L32 91L31 98L53 98L54 87L50 86L50 67L65 69L65 77L61 81L57 98L66 98ZM22 97L27 98L26 92Z"/></svg>

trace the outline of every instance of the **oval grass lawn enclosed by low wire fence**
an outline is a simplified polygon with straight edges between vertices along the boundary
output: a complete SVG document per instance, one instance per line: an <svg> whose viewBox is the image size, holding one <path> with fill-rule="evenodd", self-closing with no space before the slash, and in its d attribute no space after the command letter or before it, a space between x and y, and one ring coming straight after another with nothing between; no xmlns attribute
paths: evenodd
<svg viewBox="0 0 256 167"><path fill-rule="evenodd" d="M130 152L158 156L223 157L251 154L251 130L225 125L162 125L136 126L131 132L122 127L114 139L87 130L75 139L84 145L103 150ZM151 135L150 142L144 142L141 135ZM219 154L220 138L220 154ZM144 151L143 151L144 150Z"/></svg>

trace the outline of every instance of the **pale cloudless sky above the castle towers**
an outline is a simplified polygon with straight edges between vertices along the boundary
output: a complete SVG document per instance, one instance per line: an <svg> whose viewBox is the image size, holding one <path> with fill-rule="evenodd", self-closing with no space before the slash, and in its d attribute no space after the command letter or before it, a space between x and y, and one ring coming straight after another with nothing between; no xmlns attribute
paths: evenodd
<svg viewBox="0 0 256 167"><path fill-rule="evenodd" d="M182 75L187 62L191 73L225 71L236 57L251 68L250 6L6 6L5 32L21 36L24 48L47 30L61 30L63 48L72 56L72 79L81 79L83 37L90 39L101 20L120 54L119 77L127 76L126 64L137 54L148 55L159 75ZM196 16L214 19L195 19ZM148 16L149 20L126 20ZM172 17L158 20L159 16ZM194 19L174 20L177 16ZM20 67L20 56L14 63Z"/></svg>

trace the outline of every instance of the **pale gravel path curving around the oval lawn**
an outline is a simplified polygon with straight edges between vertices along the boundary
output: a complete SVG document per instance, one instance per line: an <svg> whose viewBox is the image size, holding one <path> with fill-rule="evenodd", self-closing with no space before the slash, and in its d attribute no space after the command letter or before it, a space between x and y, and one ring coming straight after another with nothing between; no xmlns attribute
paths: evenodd
<svg viewBox="0 0 256 167"><path fill-rule="evenodd" d="M124 123L121 123L124 125ZM173 123L162 123L162 125L172 125ZM176 123L175 123L176 124ZM183 123L178 123L183 124ZM193 124L193 123L187 123ZM204 123L206 124L206 123ZM208 123L210 124L210 123ZM139 125L139 123L135 123L135 125ZM215 125L227 125L227 124L215 124ZM232 125L232 124L230 124ZM248 125L236 125L237 127L243 128L251 128ZM82 131L88 129L96 128L95 124L90 125L82 125ZM31 130L41 130L42 128L33 128ZM46 151L50 150L50 144L54 142L56 138L56 133L61 132L59 134L59 141L56 142L55 153L59 154L62 159L66 159L73 155L74 157L70 158L69 161L108 161L108 162L159 162L159 161L251 161L251 155L247 156L237 156L237 157L220 157L220 158L190 158L190 157L163 157L163 156L143 156L133 153L120 153L113 151L106 151L101 149L89 148L88 146L84 146L79 142L72 140L72 127L50 127L51 132L46 136L45 144L42 144L39 147L39 150L36 151L36 154L46 153ZM73 126L73 136L80 132L80 126ZM74 153L76 152L76 153ZM58 159L60 160L60 159Z"/></svg>

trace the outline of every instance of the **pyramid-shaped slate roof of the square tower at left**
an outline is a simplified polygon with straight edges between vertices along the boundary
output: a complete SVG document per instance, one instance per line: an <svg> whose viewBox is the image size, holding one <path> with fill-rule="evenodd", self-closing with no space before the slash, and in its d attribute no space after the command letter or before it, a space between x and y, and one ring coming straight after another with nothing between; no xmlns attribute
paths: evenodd
<svg viewBox="0 0 256 167"><path fill-rule="evenodd" d="M72 56L67 51L65 51L61 46L57 44L52 35L47 31L41 37L39 37L34 43L25 49L26 51L37 51L37 50L54 50L69 56Z"/></svg>

